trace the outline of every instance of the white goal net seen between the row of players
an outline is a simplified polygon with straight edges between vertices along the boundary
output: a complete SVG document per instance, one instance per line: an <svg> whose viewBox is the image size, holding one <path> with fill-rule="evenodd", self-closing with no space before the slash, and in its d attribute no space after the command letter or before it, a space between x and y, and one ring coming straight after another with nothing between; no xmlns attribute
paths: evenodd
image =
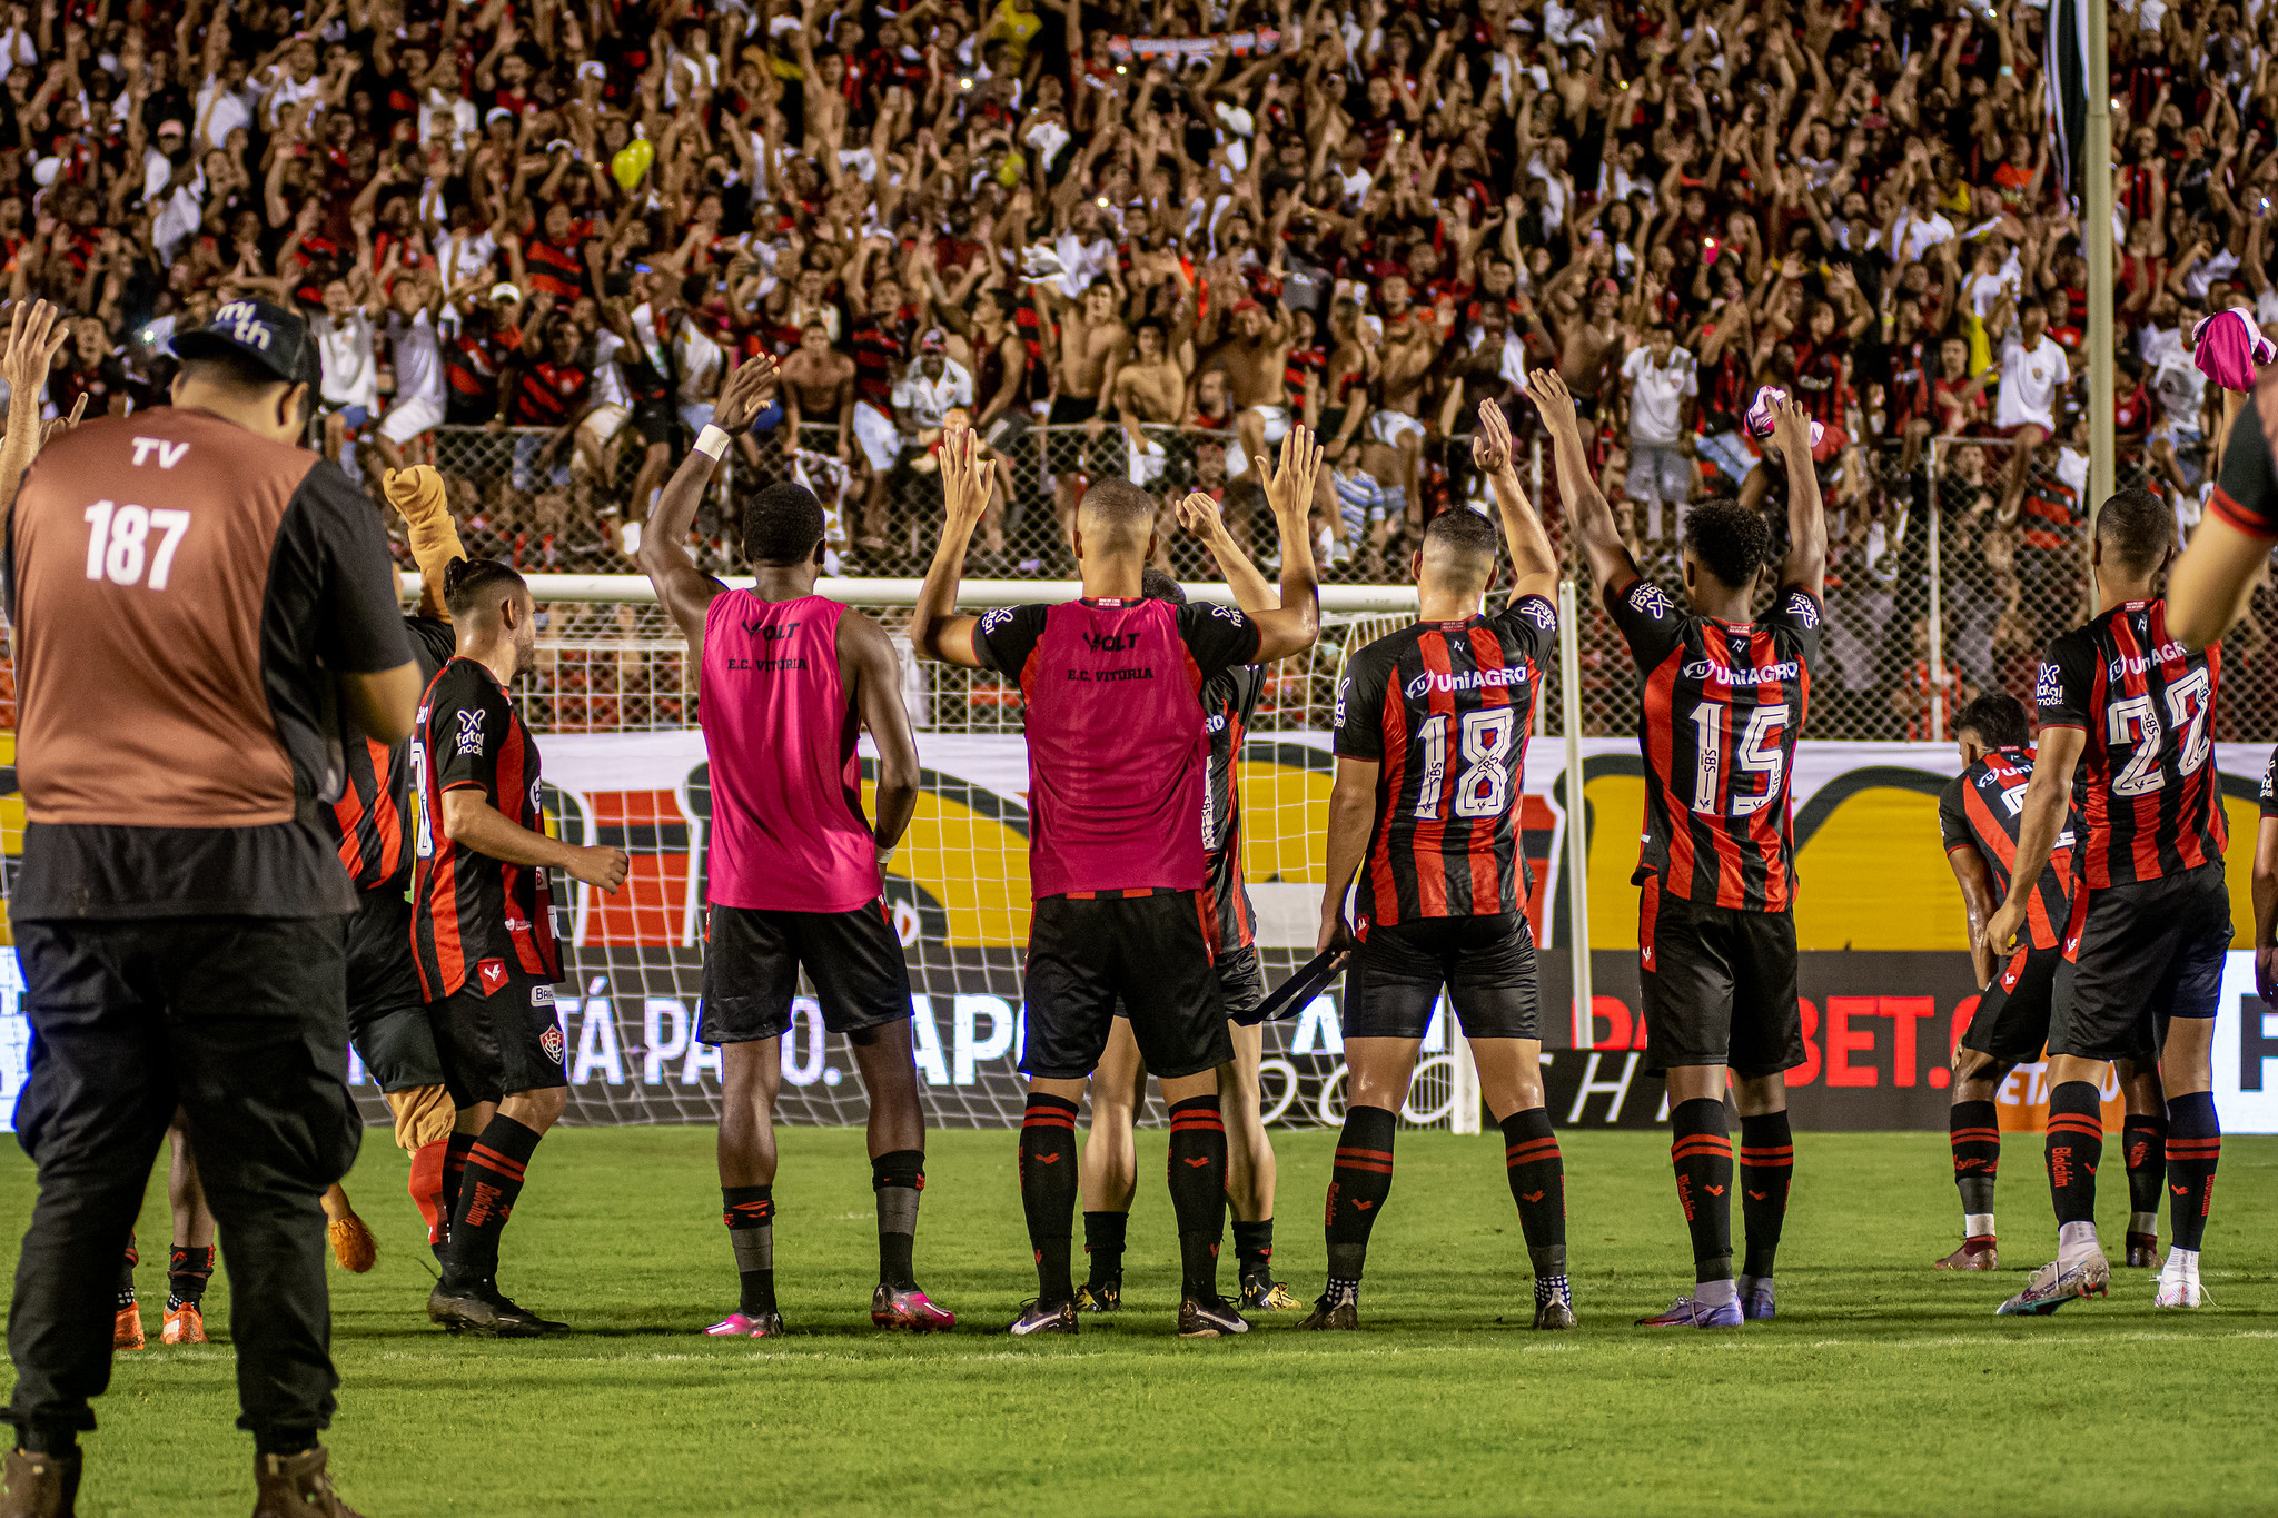
<svg viewBox="0 0 2278 1518"><path fill-rule="evenodd" d="M547 803L560 833L631 853L624 890L574 885L558 1015L576 1122L711 1122L720 1051L695 1038L704 958L704 842L711 787L695 731L686 644L622 578L540 583L547 624L538 667L519 692L538 733ZM834 589L900 630L916 583ZM551 599L570 592L581 599ZM1223 587L1219 587L1223 594ZM1073 587L970 583L977 610L1050 601ZM1239 760L1244 869L1257 908L1267 983L1312 954L1321 908L1324 826L1333 778L1330 706L1346 651L1408 621L1412 592L1333 587L1321 642L1283 660ZM601 599L624 596L624 599ZM1021 965L1030 924L1027 751L1018 692L902 651L902 696L918 731L923 785L893 858L886 899L911 970L913 1040L929 1120L1011 1127L1025 1099ZM863 776L872 776L863 740ZM866 785L868 792L868 785ZM1540 863L1538 863L1540 874ZM1538 888L1540 890L1540 888ZM1540 906L1535 908L1540 915ZM804 990L804 988L802 988ZM1330 985L1298 1017L1264 1033L1264 1111L1280 1124L1344 1115L1344 1058ZM1451 1017L1424 1040L1408 1120L1447 1127L1474 1104ZM847 1124L866 1115L845 1042L825 1033L811 997L784 1038L781 1117ZM362 1072L351 1072L360 1076ZM369 1086L360 1088L369 1092ZM1162 1108L1153 1106L1160 1120Z"/></svg>

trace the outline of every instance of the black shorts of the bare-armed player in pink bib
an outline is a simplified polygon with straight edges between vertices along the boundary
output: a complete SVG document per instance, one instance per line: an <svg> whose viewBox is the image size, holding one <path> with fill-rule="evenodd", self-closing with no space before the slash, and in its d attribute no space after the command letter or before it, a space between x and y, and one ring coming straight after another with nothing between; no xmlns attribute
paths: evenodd
<svg viewBox="0 0 2278 1518"><path fill-rule="evenodd" d="M909 1022L909 963L884 897L852 913L715 906L704 917L697 1040L747 1045L788 1033L800 970L816 983L831 1033Z"/></svg>

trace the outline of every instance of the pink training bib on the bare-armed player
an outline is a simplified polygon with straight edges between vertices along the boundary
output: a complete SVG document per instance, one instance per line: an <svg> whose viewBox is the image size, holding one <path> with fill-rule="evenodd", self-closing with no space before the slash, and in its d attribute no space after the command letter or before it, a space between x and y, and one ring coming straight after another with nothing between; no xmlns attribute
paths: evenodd
<svg viewBox="0 0 2278 1518"><path fill-rule="evenodd" d="M850 913L877 897L861 810L854 692L838 669L845 605L713 596L697 717L711 758L715 906Z"/></svg>

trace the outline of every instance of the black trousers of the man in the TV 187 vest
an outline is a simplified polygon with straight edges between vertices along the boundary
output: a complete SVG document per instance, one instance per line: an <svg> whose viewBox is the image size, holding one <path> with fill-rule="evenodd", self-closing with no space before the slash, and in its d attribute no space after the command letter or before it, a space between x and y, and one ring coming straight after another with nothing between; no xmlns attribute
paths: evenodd
<svg viewBox="0 0 2278 1518"><path fill-rule="evenodd" d="M346 919L18 922L16 954L32 1022L16 1138L39 1202L9 1306L9 1420L96 1427L118 1254L180 1106L230 1270L237 1427L326 1427L339 1375L319 1197L362 1138Z"/></svg>

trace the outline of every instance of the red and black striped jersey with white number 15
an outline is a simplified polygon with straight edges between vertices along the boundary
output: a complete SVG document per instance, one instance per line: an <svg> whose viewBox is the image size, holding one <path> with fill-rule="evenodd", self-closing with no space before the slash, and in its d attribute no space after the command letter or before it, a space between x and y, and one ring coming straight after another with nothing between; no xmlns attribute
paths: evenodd
<svg viewBox="0 0 2278 1518"><path fill-rule="evenodd" d="M1770 617L1679 612L1652 580L1606 587L1606 610L1645 678L1645 842L1636 881L1743 913L1795 906L1795 737L1811 710L1822 610L1800 585Z"/></svg>

